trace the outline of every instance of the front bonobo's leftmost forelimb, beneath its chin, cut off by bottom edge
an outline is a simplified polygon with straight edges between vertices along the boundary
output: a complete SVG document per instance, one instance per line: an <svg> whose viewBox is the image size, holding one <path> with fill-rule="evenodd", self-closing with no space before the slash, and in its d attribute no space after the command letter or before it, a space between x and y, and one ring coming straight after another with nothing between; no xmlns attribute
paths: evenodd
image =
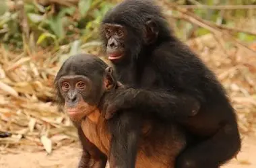
<svg viewBox="0 0 256 168"><path fill-rule="evenodd" d="M77 133L83 148L78 168L105 168L107 157L84 136L81 127L77 128Z"/></svg>

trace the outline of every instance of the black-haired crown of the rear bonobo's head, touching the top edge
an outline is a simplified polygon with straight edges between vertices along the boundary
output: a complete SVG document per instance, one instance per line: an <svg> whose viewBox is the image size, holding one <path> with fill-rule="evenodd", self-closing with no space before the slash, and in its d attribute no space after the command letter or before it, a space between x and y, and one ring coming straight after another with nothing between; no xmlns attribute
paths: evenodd
<svg viewBox="0 0 256 168"><path fill-rule="evenodd" d="M106 13L102 23L115 23L141 28L153 17L161 17L160 8L150 0L127 0L119 3Z"/></svg>

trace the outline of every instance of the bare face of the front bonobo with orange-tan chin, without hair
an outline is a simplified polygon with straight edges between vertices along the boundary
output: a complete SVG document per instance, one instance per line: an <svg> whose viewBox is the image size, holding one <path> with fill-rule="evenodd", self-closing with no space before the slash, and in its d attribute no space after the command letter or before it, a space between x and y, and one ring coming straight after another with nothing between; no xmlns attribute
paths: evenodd
<svg viewBox="0 0 256 168"><path fill-rule="evenodd" d="M65 110L71 120L78 122L96 110L92 101L92 81L82 75L67 75L59 79L59 90L65 99Z"/></svg>

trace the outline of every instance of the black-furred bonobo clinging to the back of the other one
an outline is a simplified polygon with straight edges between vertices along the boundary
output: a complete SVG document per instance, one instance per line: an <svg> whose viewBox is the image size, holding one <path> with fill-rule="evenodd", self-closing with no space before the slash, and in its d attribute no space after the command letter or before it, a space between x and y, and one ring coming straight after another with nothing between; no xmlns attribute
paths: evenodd
<svg viewBox="0 0 256 168"><path fill-rule="evenodd" d="M119 3L102 19L100 32L117 79L130 87L104 104L106 119L129 110L181 124L188 145L177 168L216 168L238 153L241 138L226 91L174 36L154 1ZM186 99L195 99L197 110L184 112Z"/></svg>

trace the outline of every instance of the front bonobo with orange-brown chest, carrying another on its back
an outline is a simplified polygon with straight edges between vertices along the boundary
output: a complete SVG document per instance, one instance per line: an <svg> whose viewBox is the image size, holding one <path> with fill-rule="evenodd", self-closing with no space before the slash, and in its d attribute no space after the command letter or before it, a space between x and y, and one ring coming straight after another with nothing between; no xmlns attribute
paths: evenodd
<svg viewBox="0 0 256 168"><path fill-rule="evenodd" d="M111 168L174 167L185 147L179 126L134 111L116 114L110 120L101 115L111 96L130 90L116 81L113 69L100 58L90 54L71 56L57 73L55 87L82 143L79 167L101 168L107 160Z"/></svg>

